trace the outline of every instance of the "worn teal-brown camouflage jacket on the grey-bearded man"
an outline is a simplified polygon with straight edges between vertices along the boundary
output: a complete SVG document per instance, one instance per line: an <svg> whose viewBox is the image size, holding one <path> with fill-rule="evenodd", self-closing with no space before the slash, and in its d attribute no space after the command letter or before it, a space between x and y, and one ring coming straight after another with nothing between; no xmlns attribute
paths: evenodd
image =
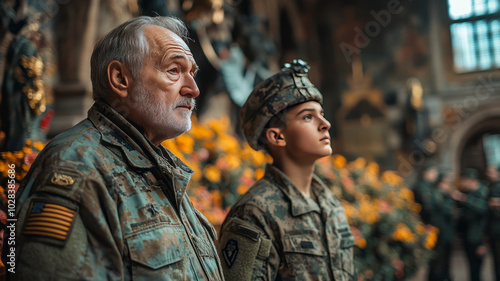
<svg viewBox="0 0 500 281"><path fill-rule="evenodd" d="M222 280L192 170L111 107L55 137L18 192L12 280Z"/></svg>

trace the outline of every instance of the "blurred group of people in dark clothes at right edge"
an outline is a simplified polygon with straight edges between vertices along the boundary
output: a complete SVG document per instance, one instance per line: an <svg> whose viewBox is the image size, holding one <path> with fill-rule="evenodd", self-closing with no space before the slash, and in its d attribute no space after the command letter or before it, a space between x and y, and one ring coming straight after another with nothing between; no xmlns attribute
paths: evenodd
<svg viewBox="0 0 500 281"><path fill-rule="evenodd" d="M428 280L453 280L450 257L454 242L465 250L469 280L481 280L484 257L490 250L495 280L500 280L500 167L489 166L485 179L478 170L465 168L453 180L449 171L427 164L414 186L424 223L439 229Z"/></svg>

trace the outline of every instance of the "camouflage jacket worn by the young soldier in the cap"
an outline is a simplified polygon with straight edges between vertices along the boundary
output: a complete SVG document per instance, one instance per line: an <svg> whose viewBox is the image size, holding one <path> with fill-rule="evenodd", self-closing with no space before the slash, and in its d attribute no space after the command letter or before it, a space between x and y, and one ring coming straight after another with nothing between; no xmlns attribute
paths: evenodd
<svg viewBox="0 0 500 281"><path fill-rule="evenodd" d="M355 280L354 237L316 176L306 198L272 165L231 208L219 256L226 280Z"/></svg>

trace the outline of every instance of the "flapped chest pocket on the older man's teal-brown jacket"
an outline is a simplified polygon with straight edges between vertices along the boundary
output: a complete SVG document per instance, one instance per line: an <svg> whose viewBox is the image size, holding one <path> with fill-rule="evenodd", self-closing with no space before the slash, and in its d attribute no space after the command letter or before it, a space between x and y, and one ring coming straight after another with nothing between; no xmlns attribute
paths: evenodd
<svg viewBox="0 0 500 281"><path fill-rule="evenodd" d="M132 233L127 238L132 279L186 280L186 243L181 225L160 224Z"/></svg>

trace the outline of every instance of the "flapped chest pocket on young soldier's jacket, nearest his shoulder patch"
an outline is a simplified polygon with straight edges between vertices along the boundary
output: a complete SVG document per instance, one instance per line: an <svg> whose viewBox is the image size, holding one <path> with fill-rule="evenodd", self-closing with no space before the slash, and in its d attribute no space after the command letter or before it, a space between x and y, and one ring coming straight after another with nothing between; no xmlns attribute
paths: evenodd
<svg viewBox="0 0 500 281"><path fill-rule="evenodd" d="M287 268L296 280L328 278L328 255L318 235L294 234L283 237L283 253ZM326 279L325 279L326 280Z"/></svg>

